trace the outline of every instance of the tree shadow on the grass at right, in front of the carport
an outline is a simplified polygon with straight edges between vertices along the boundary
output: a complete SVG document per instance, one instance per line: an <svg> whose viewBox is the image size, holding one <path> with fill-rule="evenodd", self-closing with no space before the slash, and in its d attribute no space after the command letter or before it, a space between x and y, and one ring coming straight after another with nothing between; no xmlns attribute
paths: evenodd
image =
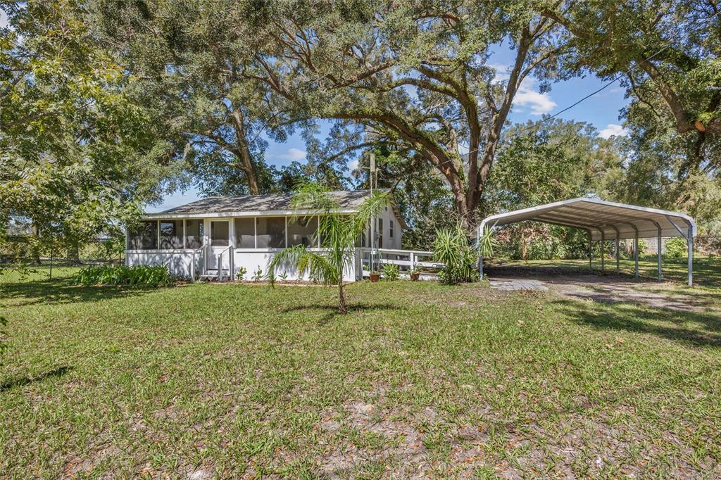
<svg viewBox="0 0 721 480"><path fill-rule="evenodd" d="M696 347L721 347L721 318L717 315L633 306L628 303L588 305L573 300L559 300L554 304L570 320L596 329L653 334Z"/></svg>

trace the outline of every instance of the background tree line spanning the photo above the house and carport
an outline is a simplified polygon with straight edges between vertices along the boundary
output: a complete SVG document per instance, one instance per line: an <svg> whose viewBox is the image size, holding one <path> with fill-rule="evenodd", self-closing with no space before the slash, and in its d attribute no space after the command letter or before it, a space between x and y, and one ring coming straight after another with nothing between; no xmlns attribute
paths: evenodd
<svg viewBox="0 0 721 480"><path fill-rule="evenodd" d="M80 244L190 185L288 192L298 179L396 191L435 228L598 195L712 226L720 197L721 16L707 1L0 2L0 230ZM489 64L510 45L508 71ZM626 90L627 138L591 125L511 125L541 92L593 74ZM329 133L321 135L323 125ZM300 133L306 162L268 141ZM452 215L448 215L452 212ZM520 232L519 235L531 235Z"/></svg>

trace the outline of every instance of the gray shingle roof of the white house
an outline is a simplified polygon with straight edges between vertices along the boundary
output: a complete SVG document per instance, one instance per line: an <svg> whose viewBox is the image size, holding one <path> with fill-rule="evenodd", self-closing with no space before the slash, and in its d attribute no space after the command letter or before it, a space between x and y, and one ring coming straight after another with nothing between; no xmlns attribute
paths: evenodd
<svg viewBox="0 0 721 480"><path fill-rule="evenodd" d="M387 191L387 190L386 190ZM363 200L371 194L370 190L355 190L329 192L340 208L358 208ZM240 213L240 212L270 212L279 210L293 210L291 194L276 195L240 195L239 197L208 197L195 202L170 208L153 217L160 215L197 215L205 213Z"/></svg>

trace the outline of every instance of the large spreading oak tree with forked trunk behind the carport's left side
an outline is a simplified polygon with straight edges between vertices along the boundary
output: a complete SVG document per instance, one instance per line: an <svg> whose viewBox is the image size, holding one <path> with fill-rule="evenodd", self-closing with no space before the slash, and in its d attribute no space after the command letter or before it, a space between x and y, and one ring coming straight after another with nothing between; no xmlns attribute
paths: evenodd
<svg viewBox="0 0 721 480"><path fill-rule="evenodd" d="M521 1L239 8L256 50L240 74L286 99L288 110L362 125L358 148L384 143L428 162L471 223L521 82L552 78L565 51L556 22ZM514 58L498 81L487 62L502 42Z"/></svg>

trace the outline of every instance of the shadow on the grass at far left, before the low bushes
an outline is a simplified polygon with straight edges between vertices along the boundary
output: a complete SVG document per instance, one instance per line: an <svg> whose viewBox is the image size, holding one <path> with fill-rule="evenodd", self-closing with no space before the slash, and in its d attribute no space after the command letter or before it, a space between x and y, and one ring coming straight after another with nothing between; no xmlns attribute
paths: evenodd
<svg viewBox="0 0 721 480"><path fill-rule="evenodd" d="M156 291L156 288L140 287L80 287L71 280L33 280L30 282L3 283L0 285L0 298L13 300L12 305L34 305L37 303L76 303L125 298Z"/></svg>

